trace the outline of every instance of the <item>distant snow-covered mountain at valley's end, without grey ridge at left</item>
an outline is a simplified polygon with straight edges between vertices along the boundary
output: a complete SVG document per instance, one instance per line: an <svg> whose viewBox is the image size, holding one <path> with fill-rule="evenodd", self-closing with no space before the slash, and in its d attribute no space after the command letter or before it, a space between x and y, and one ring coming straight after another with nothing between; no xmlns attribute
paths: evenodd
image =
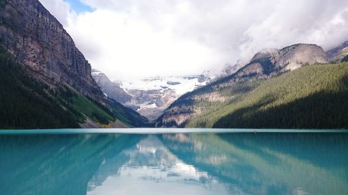
<svg viewBox="0 0 348 195"><path fill-rule="evenodd" d="M163 111L182 94L206 85L208 80L199 80L200 76L152 77L141 80L117 80L120 87L132 96L123 103L139 112L150 121L157 119Z"/></svg>

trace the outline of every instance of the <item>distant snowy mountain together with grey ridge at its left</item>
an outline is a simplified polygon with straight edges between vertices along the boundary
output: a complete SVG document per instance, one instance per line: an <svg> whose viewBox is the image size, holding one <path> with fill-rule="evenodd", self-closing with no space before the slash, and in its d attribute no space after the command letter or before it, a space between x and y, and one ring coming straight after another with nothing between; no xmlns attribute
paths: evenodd
<svg viewBox="0 0 348 195"><path fill-rule="evenodd" d="M106 96L132 108L150 121L161 116L163 111L182 94L207 83L207 80L199 80L200 76L153 77L114 82L98 70L92 70L92 76Z"/></svg>

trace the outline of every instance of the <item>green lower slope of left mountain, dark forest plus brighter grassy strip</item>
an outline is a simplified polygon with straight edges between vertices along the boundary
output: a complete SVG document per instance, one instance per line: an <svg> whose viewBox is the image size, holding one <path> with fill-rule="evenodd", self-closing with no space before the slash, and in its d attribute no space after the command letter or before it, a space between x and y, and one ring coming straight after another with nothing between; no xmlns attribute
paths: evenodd
<svg viewBox="0 0 348 195"><path fill-rule="evenodd" d="M86 117L104 125L118 119L127 126L147 125L147 119L116 101L108 99L106 108L63 84L51 90L27 71L0 46L0 129L79 128Z"/></svg>

